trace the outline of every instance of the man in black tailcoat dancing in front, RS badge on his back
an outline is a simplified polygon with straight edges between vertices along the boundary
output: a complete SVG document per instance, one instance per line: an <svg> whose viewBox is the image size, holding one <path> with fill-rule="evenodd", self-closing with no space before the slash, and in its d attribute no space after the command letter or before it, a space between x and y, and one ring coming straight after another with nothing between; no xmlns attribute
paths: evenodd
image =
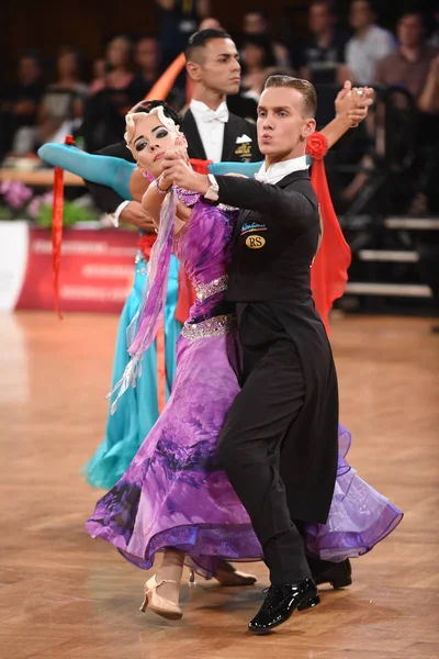
<svg viewBox="0 0 439 659"><path fill-rule="evenodd" d="M258 108L266 156L259 180L194 174L178 153L164 161L172 182L245 209L227 293L237 308L243 388L219 436L218 458L270 570L267 599L249 624L259 634L295 608L319 603L301 527L327 521L337 472L337 375L309 290L320 234L305 156L315 110L311 82L268 79Z"/></svg>

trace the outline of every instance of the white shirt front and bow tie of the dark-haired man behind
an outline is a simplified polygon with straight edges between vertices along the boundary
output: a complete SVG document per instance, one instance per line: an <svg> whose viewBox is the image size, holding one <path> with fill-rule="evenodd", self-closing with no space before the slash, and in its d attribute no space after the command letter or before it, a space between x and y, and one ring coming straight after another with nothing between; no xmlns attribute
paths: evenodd
<svg viewBox="0 0 439 659"><path fill-rule="evenodd" d="M203 144L207 160L221 163L224 144L224 126L228 121L225 101L216 110L211 110L201 101L191 101L189 105Z"/></svg>

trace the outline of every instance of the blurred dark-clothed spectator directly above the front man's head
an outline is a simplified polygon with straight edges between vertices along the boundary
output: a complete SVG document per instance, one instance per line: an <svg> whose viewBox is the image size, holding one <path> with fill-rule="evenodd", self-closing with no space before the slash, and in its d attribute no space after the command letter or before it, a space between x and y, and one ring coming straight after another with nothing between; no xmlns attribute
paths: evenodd
<svg viewBox="0 0 439 659"><path fill-rule="evenodd" d="M329 0L314 0L308 9L312 37L302 45L297 58L300 77L314 85L346 79L344 64L348 35L336 27L336 15Z"/></svg>

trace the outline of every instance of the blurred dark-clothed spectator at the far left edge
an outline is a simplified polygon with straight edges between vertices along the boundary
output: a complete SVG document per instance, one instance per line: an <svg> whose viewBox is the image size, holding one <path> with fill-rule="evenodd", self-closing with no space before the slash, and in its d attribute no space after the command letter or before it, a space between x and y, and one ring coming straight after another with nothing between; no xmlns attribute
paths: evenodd
<svg viewBox="0 0 439 659"><path fill-rule="evenodd" d="M36 119L44 92L42 66L35 53L25 53L18 63L18 82L7 88L0 109L0 160L12 150L24 155L34 147Z"/></svg>

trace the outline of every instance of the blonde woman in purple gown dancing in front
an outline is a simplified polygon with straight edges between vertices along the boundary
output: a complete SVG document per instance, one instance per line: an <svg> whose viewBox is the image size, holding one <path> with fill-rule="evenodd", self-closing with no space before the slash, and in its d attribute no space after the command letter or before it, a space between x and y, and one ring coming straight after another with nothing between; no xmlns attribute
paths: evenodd
<svg viewBox="0 0 439 659"><path fill-rule="evenodd" d="M130 114L126 125L127 146L145 175L159 177L165 152L176 145L182 145L185 157L184 137L167 108ZM162 551L160 568L145 584L142 610L149 606L178 619L184 562L211 577L224 569L224 560L261 559L262 549L216 458L221 427L239 391L236 321L224 300L237 210L210 205L199 194L168 186L166 179L156 178L143 197L145 210L160 226L144 302L128 330L132 360L119 395L135 383L142 355L155 338L171 253L191 278L196 300L177 344L168 404L125 474L98 502L87 528L143 569L149 569L155 554ZM350 435L341 426L339 439L328 522L304 532L309 555L334 561L369 551L402 517L345 461Z"/></svg>

